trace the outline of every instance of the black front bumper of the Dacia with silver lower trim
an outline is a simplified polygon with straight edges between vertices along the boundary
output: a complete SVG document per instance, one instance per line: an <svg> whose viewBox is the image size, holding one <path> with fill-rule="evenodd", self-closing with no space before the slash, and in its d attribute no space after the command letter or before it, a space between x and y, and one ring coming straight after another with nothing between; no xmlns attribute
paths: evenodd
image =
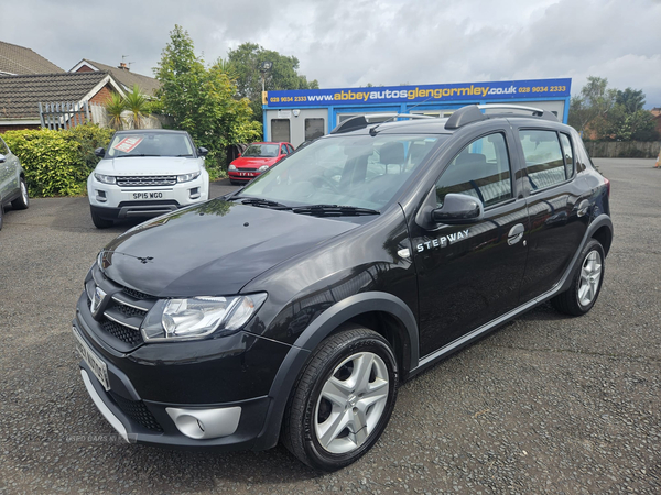
<svg viewBox="0 0 661 495"><path fill-rule="evenodd" d="M79 364L87 392L124 440L183 449L248 450L259 437L278 437L280 422L267 419L275 402L269 392L289 345L239 332L118 351L91 317L85 294L73 327L107 366L109 391L85 360ZM272 447L258 443L260 449Z"/></svg>

